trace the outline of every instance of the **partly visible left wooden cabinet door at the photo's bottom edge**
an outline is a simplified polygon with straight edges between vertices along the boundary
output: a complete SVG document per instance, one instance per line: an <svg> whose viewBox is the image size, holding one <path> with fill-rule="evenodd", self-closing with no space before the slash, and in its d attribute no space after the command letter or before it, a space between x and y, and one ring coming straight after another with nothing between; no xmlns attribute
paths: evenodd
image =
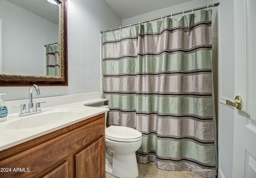
<svg viewBox="0 0 256 178"><path fill-rule="evenodd" d="M54 170L52 170L42 178L56 178L56 177L68 178L68 162L67 161L61 164L60 166L57 166L56 168L54 168Z"/></svg>

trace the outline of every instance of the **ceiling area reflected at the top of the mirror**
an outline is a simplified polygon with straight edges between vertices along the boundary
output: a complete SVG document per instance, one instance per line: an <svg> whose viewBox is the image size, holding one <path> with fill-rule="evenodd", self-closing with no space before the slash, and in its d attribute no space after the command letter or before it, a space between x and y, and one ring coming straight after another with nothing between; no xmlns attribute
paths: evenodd
<svg viewBox="0 0 256 178"><path fill-rule="evenodd" d="M6 0L6 1L58 25L58 21L59 21L58 5L50 4L47 0Z"/></svg>

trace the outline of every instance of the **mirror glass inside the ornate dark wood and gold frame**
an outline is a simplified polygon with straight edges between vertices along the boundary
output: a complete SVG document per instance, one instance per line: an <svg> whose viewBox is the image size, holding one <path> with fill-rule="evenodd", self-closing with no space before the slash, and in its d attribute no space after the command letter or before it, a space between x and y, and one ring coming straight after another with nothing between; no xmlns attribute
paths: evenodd
<svg viewBox="0 0 256 178"><path fill-rule="evenodd" d="M59 36L58 4L0 0L1 73L60 76Z"/></svg>

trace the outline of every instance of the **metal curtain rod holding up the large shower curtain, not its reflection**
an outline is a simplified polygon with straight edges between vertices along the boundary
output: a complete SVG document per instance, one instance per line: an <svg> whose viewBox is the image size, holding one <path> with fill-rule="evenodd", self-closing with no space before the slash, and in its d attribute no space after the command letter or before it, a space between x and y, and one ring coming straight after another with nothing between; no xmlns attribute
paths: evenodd
<svg viewBox="0 0 256 178"><path fill-rule="evenodd" d="M121 28L126 28L126 27L130 27L130 26L134 26L134 25L138 25L140 23L145 23L145 22L151 22L151 21L154 21L154 20L159 20L159 19L162 19L162 18L165 18L165 17L169 17L169 16L175 16L175 15L178 15L178 14L184 14L186 12L192 12L194 10L200 10L200 9L205 9L205 8L211 8L211 7L215 7L215 6L218 6L220 3L214 3L214 4L210 4L208 6L202 6L202 7L199 7L199 8L194 8L194 9L190 9L190 10L184 10L182 12L177 12L177 13L174 13L174 14L169 14L169 15L166 15L166 16L161 16L161 17L157 17L157 18L152 18L152 19L149 19L149 20L144 20L144 21L140 21L140 22L136 22L136 23L133 23L133 24L130 24L130 25L124 25L124 26L120 26L120 27L116 27L116 28L111 28L111 29L108 29L108 30L103 30L103 31L100 31L100 33L104 33L104 32L109 32L109 31L112 31L112 30L118 30L118 29L121 29Z"/></svg>

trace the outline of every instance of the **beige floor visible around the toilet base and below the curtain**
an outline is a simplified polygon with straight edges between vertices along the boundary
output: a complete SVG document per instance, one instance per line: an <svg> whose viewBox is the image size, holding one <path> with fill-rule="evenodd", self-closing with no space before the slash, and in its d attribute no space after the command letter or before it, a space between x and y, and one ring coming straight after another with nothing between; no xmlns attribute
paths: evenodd
<svg viewBox="0 0 256 178"><path fill-rule="evenodd" d="M137 178L204 178L191 171L168 171L156 168L154 162L148 164L139 164L139 176ZM111 174L106 173L106 178L116 178Z"/></svg>

